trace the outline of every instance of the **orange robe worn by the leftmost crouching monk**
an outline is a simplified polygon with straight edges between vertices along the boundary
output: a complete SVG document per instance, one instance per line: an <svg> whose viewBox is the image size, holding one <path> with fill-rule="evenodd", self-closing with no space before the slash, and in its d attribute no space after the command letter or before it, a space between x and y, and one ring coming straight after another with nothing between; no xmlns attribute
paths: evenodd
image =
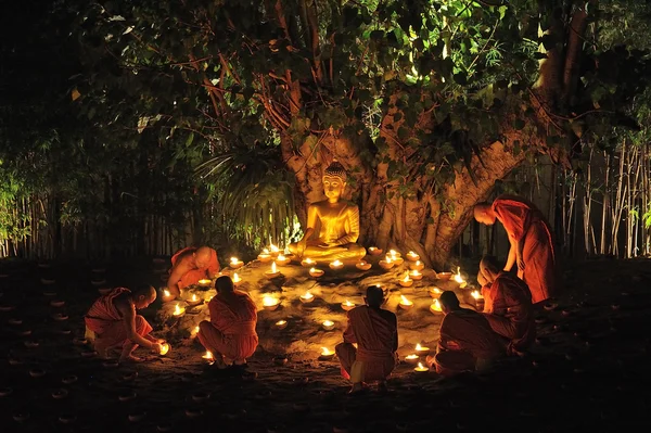
<svg viewBox="0 0 651 433"><path fill-rule="evenodd" d="M95 334L97 346L110 348L133 344L127 338L123 316L114 304L117 296L129 292L130 290L126 288L113 289L113 291L97 300L84 317L86 328ZM152 332L152 327L140 315L136 316L136 332L140 336L145 336Z"/></svg>

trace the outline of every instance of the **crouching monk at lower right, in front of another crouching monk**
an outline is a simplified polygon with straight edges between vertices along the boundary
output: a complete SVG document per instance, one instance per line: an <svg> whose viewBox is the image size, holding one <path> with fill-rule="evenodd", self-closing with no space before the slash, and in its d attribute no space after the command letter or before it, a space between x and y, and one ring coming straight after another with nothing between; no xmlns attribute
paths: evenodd
<svg viewBox="0 0 651 433"><path fill-rule="evenodd" d="M427 365L436 372L451 377L463 371L484 370L506 354L507 342L490 329L484 315L461 308L455 292L444 291L438 298L445 317L441 322L441 340L436 356L427 356Z"/></svg>

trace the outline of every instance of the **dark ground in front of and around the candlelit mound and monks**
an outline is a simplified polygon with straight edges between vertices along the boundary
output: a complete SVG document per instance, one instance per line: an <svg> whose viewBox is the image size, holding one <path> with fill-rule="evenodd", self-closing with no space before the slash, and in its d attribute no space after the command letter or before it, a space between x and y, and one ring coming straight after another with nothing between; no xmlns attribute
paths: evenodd
<svg viewBox="0 0 651 433"><path fill-rule="evenodd" d="M346 395L335 360L290 357L278 366L276 354L260 351L252 374L237 378L206 370L193 341L136 367L84 357L88 348L75 339L98 296L91 281L125 284L151 268L105 267L0 263L1 432L648 431L648 259L572 266L558 306L539 313L539 338L524 358L454 380L404 365L388 393L357 397ZM152 319L157 307L146 311ZM76 381L64 383L71 375Z"/></svg>

